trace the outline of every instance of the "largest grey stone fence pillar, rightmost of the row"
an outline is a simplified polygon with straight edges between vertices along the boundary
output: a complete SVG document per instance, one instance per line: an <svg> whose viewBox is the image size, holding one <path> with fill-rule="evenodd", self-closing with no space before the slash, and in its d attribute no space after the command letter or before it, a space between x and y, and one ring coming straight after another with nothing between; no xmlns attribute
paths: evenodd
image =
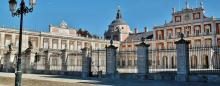
<svg viewBox="0 0 220 86"><path fill-rule="evenodd" d="M183 39L184 35L181 34L181 39L176 41L176 54L177 54L177 81L188 81L189 77L189 42Z"/></svg>

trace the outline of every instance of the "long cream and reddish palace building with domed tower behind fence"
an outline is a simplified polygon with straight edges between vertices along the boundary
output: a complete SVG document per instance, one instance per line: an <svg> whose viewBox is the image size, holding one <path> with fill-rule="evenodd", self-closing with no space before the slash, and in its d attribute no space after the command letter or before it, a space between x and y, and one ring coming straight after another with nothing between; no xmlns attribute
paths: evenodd
<svg viewBox="0 0 220 86"><path fill-rule="evenodd" d="M176 68L175 41L179 40L180 33L184 34L184 39L190 41L190 48L211 47L219 49L220 19L206 16L202 2L196 8L190 8L188 3L180 11L173 8L171 16L170 22L154 26L153 31L148 31L148 28L144 27L143 32L138 32L137 28L131 31L129 24L122 17L121 10L117 9L116 18L108 26L104 38L92 36L87 31L70 28L63 21L60 26L49 25L49 32L24 31L22 50L25 52L27 48L32 46L32 52L34 53L45 54L45 51L50 52L50 54L47 53L48 56L42 56L42 60L39 62L41 66L38 69L46 69L46 67L43 67L46 64L52 65L50 66L52 69L60 66L62 64L62 59L59 58L61 50L68 50L68 61L66 62L70 65L68 68L71 70L73 66L75 68L75 66L81 65L81 59L76 54L84 47L91 50L100 50L101 53L91 55L92 58L95 57L92 62L96 62L97 55L101 55L98 56L100 58L98 62L102 66L101 69L104 69L105 52L102 50L105 50L105 47L110 44L110 40L114 40L114 45L118 47L117 66L121 69L136 68L136 45L141 43L142 38L145 38L145 42L150 44L150 68ZM0 28L0 64L3 64L3 68L10 66L8 62L13 63L15 61L18 48L18 32L16 29ZM214 54L210 49L190 50L191 68L220 68L219 55L215 55L216 58L213 59ZM14 52L13 55L15 56L6 58L10 50ZM29 59L29 62L34 62L34 56ZM97 63L93 65L97 65ZM54 70L59 69L61 67Z"/></svg>

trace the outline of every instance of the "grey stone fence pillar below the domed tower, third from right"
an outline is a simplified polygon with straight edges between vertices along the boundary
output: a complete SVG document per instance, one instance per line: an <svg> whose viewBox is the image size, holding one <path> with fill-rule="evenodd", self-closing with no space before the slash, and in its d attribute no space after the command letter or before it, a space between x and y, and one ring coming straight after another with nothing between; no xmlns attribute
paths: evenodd
<svg viewBox="0 0 220 86"><path fill-rule="evenodd" d="M116 50L113 41L111 40L111 45L106 47L106 76L112 79L117 78L117 68L116 68Z"/></svg>

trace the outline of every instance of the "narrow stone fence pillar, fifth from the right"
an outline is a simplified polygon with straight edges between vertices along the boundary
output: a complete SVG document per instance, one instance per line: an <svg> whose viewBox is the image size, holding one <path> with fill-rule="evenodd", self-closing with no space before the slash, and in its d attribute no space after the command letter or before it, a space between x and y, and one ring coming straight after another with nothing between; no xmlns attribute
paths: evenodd
<svg viewBox="0 0 220 86"><path fill-rule="evenodd" d="M68 53L67 53L67 50L64 49L62 50L62 53L61 53L61 60L62 60L61 70L63 71L62 75L64 74L65 71L67 71L67 59L68 59Z"/></svg>

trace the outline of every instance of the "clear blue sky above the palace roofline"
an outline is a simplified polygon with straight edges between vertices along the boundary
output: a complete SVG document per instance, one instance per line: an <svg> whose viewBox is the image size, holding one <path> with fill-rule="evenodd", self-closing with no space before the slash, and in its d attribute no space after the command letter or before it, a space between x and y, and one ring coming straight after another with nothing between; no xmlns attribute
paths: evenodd
<svg viewBox="0 0 220 86"><path fill-rule="evenodd" d="M20 3L20 0L17 0ZM29 0L25 0L28 4ZM190 7L198 7L201 0L189 0ZM220 0L204 0L206 16L220 18ZM120 5L123 19L131 30L144 27L152 30L171 20L172 8L181 10L185 0L37 0L32 13L24 16L24 28L33 31L49 31L49 25L59 26L62 21L69 27L82 28L103 36L115 19ZM19 6L19 5L18 5ZM0 0L0 27L19 27L19 17L12 17L8 0Z"/></svg>

